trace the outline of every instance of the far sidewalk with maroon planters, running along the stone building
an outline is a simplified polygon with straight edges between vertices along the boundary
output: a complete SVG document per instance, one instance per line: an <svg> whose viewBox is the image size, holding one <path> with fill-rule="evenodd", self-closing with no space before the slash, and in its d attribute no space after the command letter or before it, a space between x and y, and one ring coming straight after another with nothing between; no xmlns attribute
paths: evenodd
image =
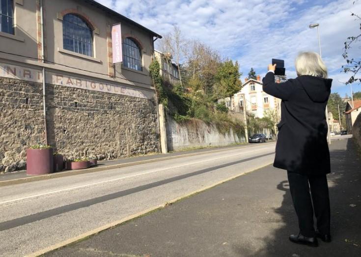
<svg viewBox="0 0 361 257"><path fill-rule="evenodd" d="M193 155L202 154L204 152L222 151L225 149L245 147L249 145L257 145L257 144L230 145L230 146L203 148L203 149L196 149L189 151L171 152L167 154L150 154L150 155L129 157L129 158L123 158L117 160L110 160L110 161L99 161L98 166L89 169L71 170L71 171L64 170L64 171L54 172L45 175L37 175L37 176L28 176L25 170L13 171L13 172L0 174L0 186L20 184L20 183L31 182L36 180L45 180L50 178L70 176L70 175L76 175L76 174L82 174L88 172L105 171L105 170L117 169L121 167L133 166L138 164L151 163L159 160L169 160L169 159L176 159L186 156L193 156Z"/></svg>

